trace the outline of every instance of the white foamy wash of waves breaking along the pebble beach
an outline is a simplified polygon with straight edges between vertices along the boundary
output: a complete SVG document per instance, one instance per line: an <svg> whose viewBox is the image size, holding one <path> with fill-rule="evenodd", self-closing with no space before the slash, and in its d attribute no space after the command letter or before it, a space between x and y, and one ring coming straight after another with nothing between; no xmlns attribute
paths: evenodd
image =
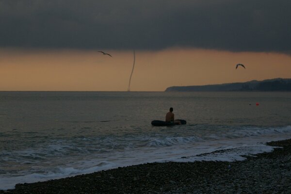
<svg viewBox="0 0 291 194"><path fill-rule="evenodd" d="M270 152L274 149L264 143L290 139L291 134L246 137L231 140L212 140L165 147L133 148L123 152L109 152L94 155L88 159L59 166L45 174L27 174L24 176L5 176L0 178L0 190L14 189L18 183L32 183L49 179L65 178L88 174L100 170L136 165L147 162L194 162L194 161L242 161L243 155ZM223 150L220 152L214 152ZM212 153L214 152L214 153Z"/></svg>

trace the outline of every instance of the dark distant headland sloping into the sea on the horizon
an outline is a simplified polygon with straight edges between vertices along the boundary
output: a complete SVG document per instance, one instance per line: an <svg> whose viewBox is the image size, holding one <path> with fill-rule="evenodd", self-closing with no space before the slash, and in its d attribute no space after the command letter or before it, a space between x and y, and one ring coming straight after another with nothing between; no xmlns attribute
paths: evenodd
<svg viewBox="0 0 291 194"><path fill-rule="evenodd" d="M276 78L214 85L171 86L165 92L291 91L291 79Z"/></svg>

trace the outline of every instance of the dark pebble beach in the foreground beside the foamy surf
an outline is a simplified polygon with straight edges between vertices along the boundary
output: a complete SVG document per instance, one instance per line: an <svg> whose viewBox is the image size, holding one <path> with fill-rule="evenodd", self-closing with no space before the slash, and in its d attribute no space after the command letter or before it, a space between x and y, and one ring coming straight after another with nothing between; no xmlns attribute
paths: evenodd
<svg viewBox="0 0 291 194"><path fill-rule="evenodd" d="M291 193L291 139L273 152L236 162L145 163L44 182L16 184L0 194Z"/></svg>

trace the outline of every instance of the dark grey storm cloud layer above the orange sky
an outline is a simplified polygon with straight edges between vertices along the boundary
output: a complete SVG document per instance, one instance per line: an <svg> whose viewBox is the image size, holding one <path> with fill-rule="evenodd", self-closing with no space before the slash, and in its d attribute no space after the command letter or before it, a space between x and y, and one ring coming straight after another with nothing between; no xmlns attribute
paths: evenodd
<svg viewBox="0 0 291 194"><path fill-rule="evenodd" d="M0 0L0 47L291 50L290 0Z"/></svg>

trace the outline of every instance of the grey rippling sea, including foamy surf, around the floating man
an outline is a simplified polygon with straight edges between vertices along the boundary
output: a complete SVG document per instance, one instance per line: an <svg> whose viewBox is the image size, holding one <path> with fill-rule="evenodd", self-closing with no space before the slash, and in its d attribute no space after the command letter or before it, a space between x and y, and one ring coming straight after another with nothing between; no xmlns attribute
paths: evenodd
<svg viewBox="0 0 291 194"><path fill-rule="evenodd" d="M170 107L187 124L151 126ZM290 92L0 92L0 190L146 162L243 160L289 138Z"/></svg>

